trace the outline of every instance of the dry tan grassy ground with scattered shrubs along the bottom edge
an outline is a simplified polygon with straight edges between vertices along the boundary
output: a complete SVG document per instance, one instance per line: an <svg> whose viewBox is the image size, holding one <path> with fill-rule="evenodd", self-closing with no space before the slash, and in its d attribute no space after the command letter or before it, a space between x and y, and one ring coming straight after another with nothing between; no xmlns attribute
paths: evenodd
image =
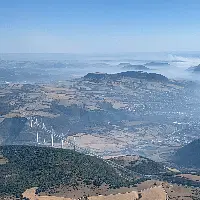
<svg viewBox="0 0 200 200"><path fill-rule="evenodd" d="M89 196L89 200L136 200L141 194L140 200L166 200L167 195L169 199L174 200L192 200L194 197L200 199L199 189L187 188L176 184L171 185L167 182L156 180L145 181L139 184L137 188L109 189L106 185L102 185L99 188L90 188L82 185L78 189L72 189L69 186L64 186L60 190L56 190L56 196L48 196L47 193L41 193L40 196L36 196L35 189L26 190L23 196L28 197L30 200L72 200L84 195Z"/></svg>

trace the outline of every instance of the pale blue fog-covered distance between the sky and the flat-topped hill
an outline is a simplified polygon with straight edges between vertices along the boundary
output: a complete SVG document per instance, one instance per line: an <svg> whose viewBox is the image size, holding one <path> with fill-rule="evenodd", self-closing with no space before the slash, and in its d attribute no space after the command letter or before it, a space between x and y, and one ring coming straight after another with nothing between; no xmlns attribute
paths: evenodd
<svg viewBox="0 0 200 200"><path fill-rule="evenodd" d="M197 53L1 54L0 81L45 83L82 77L89 72L122 71L146 71L159 73L170 79L198 81L199 74L188 69L199 64L200 57Z"/></svg>

